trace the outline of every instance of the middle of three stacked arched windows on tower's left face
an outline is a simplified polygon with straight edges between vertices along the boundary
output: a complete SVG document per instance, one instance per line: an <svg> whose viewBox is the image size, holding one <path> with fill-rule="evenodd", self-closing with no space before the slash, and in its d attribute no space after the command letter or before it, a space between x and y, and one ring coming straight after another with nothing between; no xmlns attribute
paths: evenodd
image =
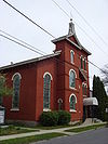
<svg viewBox="0 0 108 144"><path fill-rule="evenodd" d="M69 87L76 88L76 73L72 69L69 71Z"/></svg>

